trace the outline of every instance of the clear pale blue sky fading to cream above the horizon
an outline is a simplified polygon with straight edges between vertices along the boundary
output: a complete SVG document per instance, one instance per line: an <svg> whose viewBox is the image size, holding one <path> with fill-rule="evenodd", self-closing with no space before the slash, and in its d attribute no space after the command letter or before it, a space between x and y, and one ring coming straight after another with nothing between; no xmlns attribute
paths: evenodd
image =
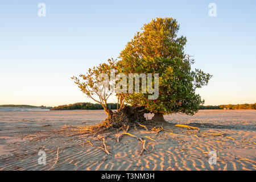
<svg viewBox="0 0 256 182"><path fill-rule="evenodd" d="M38 4L46 4L46 17ZM208 15L216 3L217 16ZM0 105L91 101L71 80L117 58L144 23L172 17L194 68L213 75L205 105L256 102L256 1L0 1Z"/></svg>

